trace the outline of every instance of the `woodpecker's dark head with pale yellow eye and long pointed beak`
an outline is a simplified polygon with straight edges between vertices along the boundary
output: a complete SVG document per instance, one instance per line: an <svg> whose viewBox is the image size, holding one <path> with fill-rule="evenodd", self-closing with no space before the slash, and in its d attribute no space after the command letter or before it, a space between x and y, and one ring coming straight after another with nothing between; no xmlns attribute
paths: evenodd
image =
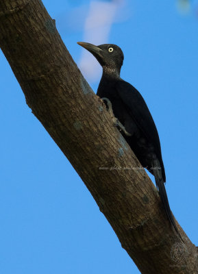
<svg viewBox="0 0 198 274"><path fill-rule="evenodd" d="M87 42L77 42L77 44L95 56L99 64L103 67L103 71L117 71L120 73L124 60L123 51L120 47L114 44L95 46Z"/></svg>

